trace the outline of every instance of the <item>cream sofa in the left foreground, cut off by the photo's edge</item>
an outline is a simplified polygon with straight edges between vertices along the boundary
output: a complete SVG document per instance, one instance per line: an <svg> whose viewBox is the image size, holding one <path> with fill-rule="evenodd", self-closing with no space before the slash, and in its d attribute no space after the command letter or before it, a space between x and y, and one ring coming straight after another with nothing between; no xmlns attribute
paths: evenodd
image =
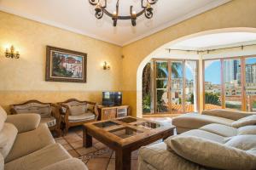
<svg viewBox="0 0 256 170"><path fill-rule="evenodd" d="M7 116L0 106L0 170L87 170L56 144L38 114Z"/></svg>

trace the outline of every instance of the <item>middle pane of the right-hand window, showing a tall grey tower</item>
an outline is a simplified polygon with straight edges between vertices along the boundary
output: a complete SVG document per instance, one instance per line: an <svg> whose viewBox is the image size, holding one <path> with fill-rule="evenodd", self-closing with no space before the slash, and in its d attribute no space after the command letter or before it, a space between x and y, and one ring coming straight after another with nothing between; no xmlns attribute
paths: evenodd
<svg viewBox="0 0 256 170"><path fill-rule="evenodd" d="M241 59L224 60L225 108L241 110Z"/></svg>

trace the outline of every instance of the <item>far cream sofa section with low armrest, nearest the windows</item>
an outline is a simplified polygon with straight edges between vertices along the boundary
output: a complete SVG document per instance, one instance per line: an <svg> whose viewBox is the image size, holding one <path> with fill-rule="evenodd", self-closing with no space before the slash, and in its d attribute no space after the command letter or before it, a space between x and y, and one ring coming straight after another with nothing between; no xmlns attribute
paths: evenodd
<svg viewBox="0 0 256 170"><path fill-rule="evenodd" d="M184 133L192 129L203 127L210 123L231 126L233 122L246 116L255 115L252 112L209 110L199 113L187 113L172 119L172 124L177 127L177 133Z"/></svg>

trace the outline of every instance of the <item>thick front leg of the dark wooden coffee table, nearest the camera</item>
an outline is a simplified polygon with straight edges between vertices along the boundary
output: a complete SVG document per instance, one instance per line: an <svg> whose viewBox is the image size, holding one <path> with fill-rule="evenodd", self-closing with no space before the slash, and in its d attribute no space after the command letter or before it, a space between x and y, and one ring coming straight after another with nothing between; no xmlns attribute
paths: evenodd
<svg viewBox="0 0 256 170"><path fill-rule="evenodd" d="M131 170L130 150L115 150L115 170Z"/></svg>

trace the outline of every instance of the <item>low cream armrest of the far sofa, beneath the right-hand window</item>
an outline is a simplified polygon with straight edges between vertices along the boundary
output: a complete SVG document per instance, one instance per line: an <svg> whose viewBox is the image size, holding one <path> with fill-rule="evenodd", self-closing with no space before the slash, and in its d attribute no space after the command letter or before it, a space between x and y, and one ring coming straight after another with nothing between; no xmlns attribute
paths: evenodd
<svg viewBox="0 0 256 170"><path fill-rule="evenodd" d="M202 111L201 114L209 115L209 116L219 116L219 117L224 117L226 119L231 119L231 120L237 121L238 119L241 119L246 116L255 115L256 113L245 112L245 111L227 111L227 110L216 109L216 110Z"/></svg>

